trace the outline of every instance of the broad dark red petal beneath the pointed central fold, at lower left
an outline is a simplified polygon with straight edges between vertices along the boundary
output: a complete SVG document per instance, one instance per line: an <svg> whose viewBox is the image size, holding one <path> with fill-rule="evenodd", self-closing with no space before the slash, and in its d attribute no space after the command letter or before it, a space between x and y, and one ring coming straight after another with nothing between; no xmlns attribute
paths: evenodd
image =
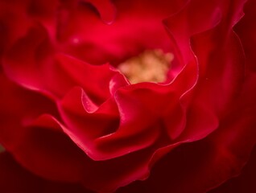
<svg viewBox="0 0 256 193"><path fill-rule="evenodd" d="M67 129L49 115L39 117L25 129L17 146L3 144L21 165L43 179L81 182L91 190L105 192L148 175L147 161L152 150L95 162L63 133Z"/></svg>

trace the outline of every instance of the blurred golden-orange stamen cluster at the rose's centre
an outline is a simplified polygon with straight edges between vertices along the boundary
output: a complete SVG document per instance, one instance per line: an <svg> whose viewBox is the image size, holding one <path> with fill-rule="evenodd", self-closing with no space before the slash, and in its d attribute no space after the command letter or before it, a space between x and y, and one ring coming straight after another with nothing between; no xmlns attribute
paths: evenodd
<svg viewBox="0 0 256 193"><path fill-rule="evenodd" d="M131 84L139 82L164 82L171 67L173 54L162 50L147 50L134 56L122 64L118 69L130 80Z"/></svg>

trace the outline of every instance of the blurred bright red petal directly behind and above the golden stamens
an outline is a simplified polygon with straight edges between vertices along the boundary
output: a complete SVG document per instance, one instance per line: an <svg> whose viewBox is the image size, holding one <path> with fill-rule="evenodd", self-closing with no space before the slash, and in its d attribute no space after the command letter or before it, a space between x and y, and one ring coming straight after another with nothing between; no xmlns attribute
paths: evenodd
<svg viewBox="0 0 256 193"><path fill-rule="evenodd" d="M60 41L65 51L90 64L117 65L145 49L170 51L171 42L162 20L180 10L186 2L115 1L117 16L111 25L102 23L86 4L64 7L68 16L62 25ZM97 6L100 13L101 6Z"/></svg>

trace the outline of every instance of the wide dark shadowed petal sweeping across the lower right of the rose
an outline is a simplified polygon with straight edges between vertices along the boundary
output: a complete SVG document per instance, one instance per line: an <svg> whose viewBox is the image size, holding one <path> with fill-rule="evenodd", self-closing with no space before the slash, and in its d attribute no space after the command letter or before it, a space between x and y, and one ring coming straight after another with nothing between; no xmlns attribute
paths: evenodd
<svg viewBox="0 0 256 193"><path fill-rule="evenodd" d="M241 111L221 121L208 138L171 151L152 168L145 182L119 192L200 193L239 174L256 142L254 109L246 110L246 117L239 116Z"/></svg>

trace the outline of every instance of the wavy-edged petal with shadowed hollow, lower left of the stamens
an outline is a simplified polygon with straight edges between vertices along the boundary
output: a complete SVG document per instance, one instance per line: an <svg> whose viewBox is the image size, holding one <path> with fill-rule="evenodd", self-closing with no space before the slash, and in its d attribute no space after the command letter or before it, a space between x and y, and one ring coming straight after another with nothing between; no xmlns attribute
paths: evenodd
<svg viewBox="0 0 256 193"><path fill-rule="evenodd" d="M97 158L93 140L118 127L118 112L113 100L97 107L82 88L73 88L59 104L67 133L89 156Z"/></svg>

